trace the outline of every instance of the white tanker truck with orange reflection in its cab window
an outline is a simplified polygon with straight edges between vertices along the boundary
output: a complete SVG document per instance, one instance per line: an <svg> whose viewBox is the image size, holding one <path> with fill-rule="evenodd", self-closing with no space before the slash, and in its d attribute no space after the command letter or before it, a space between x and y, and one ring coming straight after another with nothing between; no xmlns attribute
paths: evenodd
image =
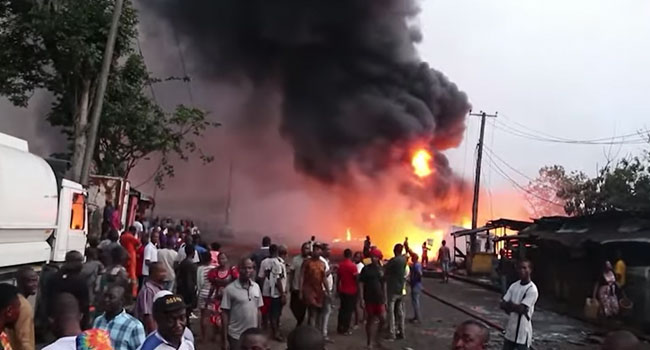
<svg viewBox="0 0 650 350"><path fill-rule="evenodd" d="M87 192L66 180L27 141L0 133L0 275L84 253Z"/></svg>

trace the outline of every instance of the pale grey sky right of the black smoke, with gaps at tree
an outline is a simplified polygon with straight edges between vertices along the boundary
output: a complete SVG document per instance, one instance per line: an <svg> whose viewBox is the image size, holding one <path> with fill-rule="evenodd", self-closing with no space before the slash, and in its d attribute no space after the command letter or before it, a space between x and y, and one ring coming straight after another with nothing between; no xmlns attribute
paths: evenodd
<svg viewBox="0 0 650 350"><path fill-rule="evenodd" d="M498 111L496 120L491 118L486 125L485 145L487 153L494 152L505 163L484 158L484 186L511 189L511 180L499 175L492 162L525 185L544 165L560 164L593 175L608 157L642 152L644 145L547 143L507 130L584 140L647 128L650 2L423 0L421 10L414 22L423 33L418 45L422 58L467 92L475 112ZM169 32L146 17L143 14L140 31L149 68L158 76L179 75L178 52ZM241 88L202 86L200 78L193 84L196 100L210 105ZM161 91L159 99L169 106L187 103L181 91L183 96ZM41 121L48 105L49 99L41 94L27 110L0 100L0 131L27 139L37 154L59 151L62 138ZM217 116L237 113L210 109ZM446 152L452 167L468 179L474 171L478 127L479 118L469 117L465 141ZM225 174L224 167L209 169ZM168 188L204 180L184 170L177 169L178 179ZM149 178L146 171L135 175L136 184ZM223 181L215 188L223 188Z"/></svg>

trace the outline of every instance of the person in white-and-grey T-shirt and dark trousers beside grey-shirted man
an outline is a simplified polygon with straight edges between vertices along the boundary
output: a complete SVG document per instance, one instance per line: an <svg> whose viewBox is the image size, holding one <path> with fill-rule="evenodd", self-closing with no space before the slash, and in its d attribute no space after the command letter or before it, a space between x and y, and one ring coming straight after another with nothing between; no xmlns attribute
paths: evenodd
<svg viewBox="0 0 650 350"><path fill-rule="evenodd" d="M286 253L286 248L285 248ZM264 272L264 286L262 287L262 296L264 304L268 302L269 323L271 325L271 336L273 339L284 342L280 334L280 316L282 307L286 304L285 290L287 288L287 270L284 260L280 257L280 247L271 244L269 247L269 257L262 261L260 272Z"/></svg>

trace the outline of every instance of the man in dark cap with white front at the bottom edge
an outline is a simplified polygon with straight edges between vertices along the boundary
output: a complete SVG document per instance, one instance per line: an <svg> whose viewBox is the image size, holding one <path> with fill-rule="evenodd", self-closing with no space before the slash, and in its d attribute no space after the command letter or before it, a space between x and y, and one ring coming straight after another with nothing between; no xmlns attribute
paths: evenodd
<svg viewBox="0 0 650 350"><path fill-rule="evenodd" d="M179 295L165 295L153 304L158 329L149 334L140 350L194 350L194 342L185 335L188 324L185 302Z"/></svg>

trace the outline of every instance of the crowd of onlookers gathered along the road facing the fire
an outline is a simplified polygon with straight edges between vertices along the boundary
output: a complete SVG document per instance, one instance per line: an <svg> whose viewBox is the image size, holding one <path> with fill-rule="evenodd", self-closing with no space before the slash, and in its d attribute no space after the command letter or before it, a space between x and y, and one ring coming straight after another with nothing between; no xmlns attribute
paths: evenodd
<svg viewBox="0 0 650 350"><path fill-rule="evenodd" d="M46 266L40 278L21 268L16 287L0 284L0 350L35 350L37 343L49 344L45 350L194 350L195 342L269 350L271 339L289 350L336 349L328 334L335 304L336 332L350 335L365 324L366 346L374 348L406 338L408 291L409 321L422 321L423 268L408 240L395 244L390 259L370 237L362 250L345 249L335 259L315 237L291 258L286 246L264 237L259 249L231 263L191 224L149 230L138 224L91 240L85 260L71 251L59 269ZM445 248L438 252L443 282L450 259ZM505 350L531 346L538 296L531 271L530 262L518 264L519 280L501 303L509 315ZM36 294L34 311L27 298ZM285 305L295 318L286 337ZM488 328L470 320L455 329L451 348L482 350L488 341Z"/></svg>

